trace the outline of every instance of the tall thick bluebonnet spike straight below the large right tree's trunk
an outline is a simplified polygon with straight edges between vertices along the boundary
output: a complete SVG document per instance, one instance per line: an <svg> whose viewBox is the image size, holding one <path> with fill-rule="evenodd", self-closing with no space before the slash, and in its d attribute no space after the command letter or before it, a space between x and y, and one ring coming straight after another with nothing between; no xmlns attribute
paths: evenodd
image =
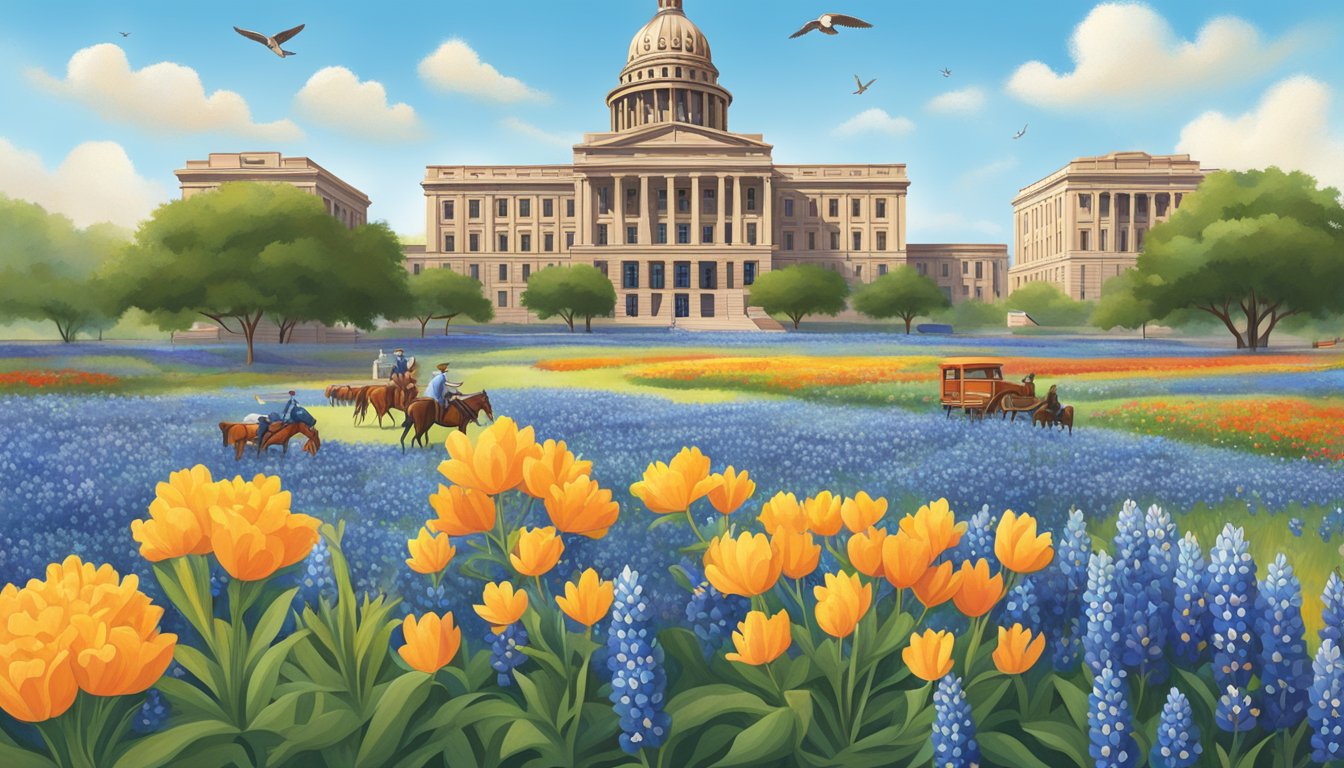
<svg viewBox="0 0 1344 768"><path fill-rule="evenodd" d="M1255 611L1255 561L1246 531L1227 523L1208 551L1208 609L1214 617L1214 679L1218 687L1239 689L1251 682L1259 655L1253 613Z"/></svg>

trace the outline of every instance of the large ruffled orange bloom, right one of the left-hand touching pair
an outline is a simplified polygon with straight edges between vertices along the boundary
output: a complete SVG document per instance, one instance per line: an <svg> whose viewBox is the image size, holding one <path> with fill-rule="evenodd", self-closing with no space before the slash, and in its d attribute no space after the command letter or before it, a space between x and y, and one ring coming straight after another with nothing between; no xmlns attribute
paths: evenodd
<svg viewBox="0 0 1344 768"><path fill-rule="evenodd" d="M290 512L289 491L280 477L257 475L220 483L218 506L210 508L210 541L228 576L259 581L308 557L317 545L317 518Z"/></svg>

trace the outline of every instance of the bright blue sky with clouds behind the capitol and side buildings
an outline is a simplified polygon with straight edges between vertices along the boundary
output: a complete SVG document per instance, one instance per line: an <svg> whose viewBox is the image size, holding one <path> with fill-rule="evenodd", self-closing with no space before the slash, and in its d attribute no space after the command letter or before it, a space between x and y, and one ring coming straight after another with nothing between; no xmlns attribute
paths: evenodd
<svg viewBox="0 0 1344 768"><path fill-rule="evenodd" d="M1344 4L828 1L685 0L685 11L735 97L732 130L763 133L782 163L909 165L913 242L1011 242L1017 188L1075 156L1118 149L1188 149L1211 167L1296 165L1344 184L1344 100L1332 100L1344 87L1344 59L1332 54ZM133 223L176 195L172 171L187 159L280 149L364 190L371 215L406 234L423 230L426 164L567 163L569 143L605 130L605 95L656 8L655 0L7 5L0 192L81 223ZM828 8L876 27L788 39ZM231 30L298 23L306 28L286 43L298 54L288 59ZM453 39L465 43L453 51L474 51L497 75L464 69L461 56L423 75L421 62ZM83 69L67 78L77 52ZM126 77L114 71L120 52ZM161 62L171 65L144 71ZM1040 63L1021 70L1028 62ZM953 77L938 74L943 66ZM349 74L327 71L310 83L325 67ZM191 73L203 94L237 94L211 102L227 120L206 116ZM878 78L862 97L851 94L856 73ZM372 106L352 109L359 101L343 89L355 94L362 83L370 98L370 81L386 109L376 93ZM308 98L298 95L305 86ZM249 117L238 118L243 102ZM1023 124L1027 136L1012 140Z"/></svg>

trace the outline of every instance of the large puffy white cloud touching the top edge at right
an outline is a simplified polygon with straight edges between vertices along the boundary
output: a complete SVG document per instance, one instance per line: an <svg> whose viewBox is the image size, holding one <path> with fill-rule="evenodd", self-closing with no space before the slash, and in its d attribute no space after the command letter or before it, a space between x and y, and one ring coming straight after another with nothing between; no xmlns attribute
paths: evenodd
<svg viewBox="0 0 1344 768"><path fill-rule="evenodd" d="M1187 40L1148 5L1102 3L1074 28L1074 71L1032 61L1017 67L1007 87L1047 108L1154 102L1263 71L1292 46L1290 39L1263 42L1255 27L1234 16L1212 19Z"/></svg>

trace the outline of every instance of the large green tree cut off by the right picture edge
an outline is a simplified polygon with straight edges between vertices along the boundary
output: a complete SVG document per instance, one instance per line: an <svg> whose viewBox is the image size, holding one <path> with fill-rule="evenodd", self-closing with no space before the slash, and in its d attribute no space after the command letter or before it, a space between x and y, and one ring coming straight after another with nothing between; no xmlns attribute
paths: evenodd
<svg viewBox="0 0 1344 768"><path fill-rule="evenodd" d="M1138 299L1157 319L1216 317L1238 348L1269 346L1278 323L1344 311L1344 207L1301 172L1211 174L1138 257Z"/></svg>

